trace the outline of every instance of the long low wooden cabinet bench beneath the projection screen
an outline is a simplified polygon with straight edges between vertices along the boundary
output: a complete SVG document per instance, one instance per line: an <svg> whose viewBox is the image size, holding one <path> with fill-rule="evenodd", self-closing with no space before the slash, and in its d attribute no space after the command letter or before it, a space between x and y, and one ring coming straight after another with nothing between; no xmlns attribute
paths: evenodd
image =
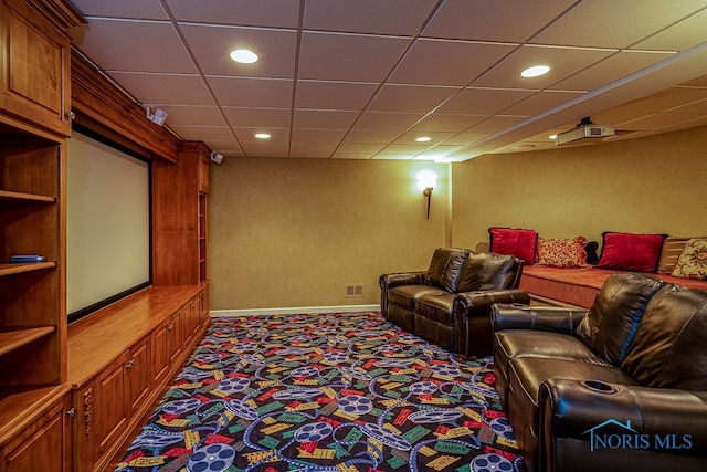
<svg viewBox="0 0 707 472"><path fill-rule="evenodd" d="M207 286L147 289L71 326L74 472L104 470L131 439L204 333Z"/></svg>

